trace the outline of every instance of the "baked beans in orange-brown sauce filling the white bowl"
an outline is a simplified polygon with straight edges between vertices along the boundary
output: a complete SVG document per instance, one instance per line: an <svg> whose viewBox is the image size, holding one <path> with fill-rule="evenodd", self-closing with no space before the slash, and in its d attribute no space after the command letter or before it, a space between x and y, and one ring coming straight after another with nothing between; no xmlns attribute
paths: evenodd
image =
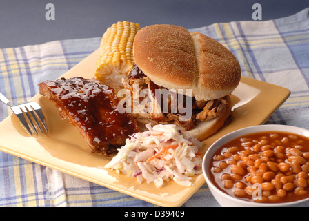
<svg viewBox="0 0 309 221"><path fill-rule="evenodd" d="M217 184L237 198L288 202L309 197L306 137L281 132L248 135L225 144L212 162Z"/></svg>

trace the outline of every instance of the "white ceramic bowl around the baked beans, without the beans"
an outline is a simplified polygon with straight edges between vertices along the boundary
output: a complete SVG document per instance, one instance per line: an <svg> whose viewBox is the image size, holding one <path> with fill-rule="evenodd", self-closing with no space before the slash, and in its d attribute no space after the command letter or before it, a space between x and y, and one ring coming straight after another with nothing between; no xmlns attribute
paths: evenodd
<svg viewBox="0 0 309 221"><path fill-rule="evenodd" d="M252 206L309 206L309 198L298 200L294 202L282 202L282 203L257 203L257 202L248 202L246 200L240 200L239 198L234 198L226 193L223 193L220 189L217 188L212 181L210 180L209 175L209 165L212 156L215 155L215 152L218 148L226 144L230 140L233 140L236 137L240 137L241 135L246 135L249 133L256 133L262 131L283 131L283 132L290 132L295 133L298 135L303 135L309 137L309 130L304 128L298 128L295 126L286 126L286 125L272 125L272 124L265 124L259 126L250 126L248 128L242 128L237 131L233 131L228 133L227 135L221 137L219 140L214 142L207 150L206 154L203 157L203 175L206 179L208 187L215 197L217 202L221 206L241 206L241 207L252 207Z"/></svg>

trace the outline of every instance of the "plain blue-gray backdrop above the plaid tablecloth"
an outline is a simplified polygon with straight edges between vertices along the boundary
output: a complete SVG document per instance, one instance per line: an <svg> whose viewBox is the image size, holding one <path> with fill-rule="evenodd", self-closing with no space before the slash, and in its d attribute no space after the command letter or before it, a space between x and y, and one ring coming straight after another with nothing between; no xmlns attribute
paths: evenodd
<svg viewBox="0 0 309 221"><path fill-rule="evenodd" d="M54 4L54 21L45 19L48 3ZM0 0L0 48L101 37L112 23L124 20L185 28L252 21L254 3L261 4L263 20L309 7L309 0Z"/></svg>

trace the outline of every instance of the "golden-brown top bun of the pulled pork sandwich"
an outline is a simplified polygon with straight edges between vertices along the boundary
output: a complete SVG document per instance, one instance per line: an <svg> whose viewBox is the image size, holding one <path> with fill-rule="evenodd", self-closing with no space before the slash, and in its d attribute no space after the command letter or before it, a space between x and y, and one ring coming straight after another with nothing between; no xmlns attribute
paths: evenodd
<svg viewBox="0 0 309 221"><path fill-rule="evenodd" d="M198 101L226 96L238 86L241 68L226 47L199 32L159 24L141 28L134 38L134 62L155 84L191 89Z"/></svg>

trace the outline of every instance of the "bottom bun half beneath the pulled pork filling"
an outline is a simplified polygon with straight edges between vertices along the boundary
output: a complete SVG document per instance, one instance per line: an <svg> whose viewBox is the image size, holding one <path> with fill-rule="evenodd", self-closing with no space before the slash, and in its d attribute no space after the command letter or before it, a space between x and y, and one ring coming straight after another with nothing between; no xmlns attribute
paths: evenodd
<svg viewBox="0 0 309 221"><path fill-rule="evenodd" d="M188 131L188 133L197 138L197 140L205 140L207 137L217 133L222 126L228 124L231 115L231 102L230 96L227 96L227 98L228 100L226 102L228 102L228 104L221 115L205 122L199 122L197 126Z"/></svg>

